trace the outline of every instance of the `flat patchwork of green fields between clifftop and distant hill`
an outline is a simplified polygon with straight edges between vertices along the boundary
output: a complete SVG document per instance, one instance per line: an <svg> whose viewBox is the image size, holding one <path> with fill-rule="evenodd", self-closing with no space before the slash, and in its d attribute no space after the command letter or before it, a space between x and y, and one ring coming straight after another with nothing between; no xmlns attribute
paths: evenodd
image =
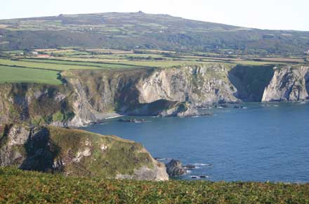
<svg viewBox="0 0 309 204"><path fill-rule="evenodd" d="M190 53L163 50L121 51L112 49L83 49L77 47L60 49L37 49L39 54L31 52L8 51L0 58L2 72L0 82L37 82L59 84L55 72L65 70L112 70L130 68L171 68L185 65L207 65L222 63L228 67L241 65L277 65L287 63L305 63L303 58L280 56L226 56L217 53ZM62 56L53 56L61 53ZM1 54L1 53L0 53ZM40 57L44 56L44 57ZM10 69L15 68L15 70ZM25 69L25 70L23 70ZM32 69L32 70L31 70ZM4 71L5 70L5 71ZM41 71L39 71L41 70ZM46 70L46 72L42 71ZM47 71L48 70L48 71ZM18 72L18 75L15 74Z"/></svg>

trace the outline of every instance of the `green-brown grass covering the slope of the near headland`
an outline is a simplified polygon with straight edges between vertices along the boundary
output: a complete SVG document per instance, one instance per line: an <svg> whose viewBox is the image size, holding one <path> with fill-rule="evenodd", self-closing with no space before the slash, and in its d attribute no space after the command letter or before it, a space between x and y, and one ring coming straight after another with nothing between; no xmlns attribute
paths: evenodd
<svg viewBox="0 0 309 204"><path fill-rule="evenodd" d="M133 170L146 165L152 167L150 155L143 153L143 146L133 141L121 139L117 136L103 136L78 129L61 129L49 126L48 132L51 141L58 146L59 158L66 158L68 151L76 155L86 146L86 141L91 144L91 156L82 158L79 165L83 170L76 168L74 162L65 167L71 175L84 175L90 172L96 177L111 178L116 174L133 174ZM107 151L102 153L100 146L107 146Z"/></svg>

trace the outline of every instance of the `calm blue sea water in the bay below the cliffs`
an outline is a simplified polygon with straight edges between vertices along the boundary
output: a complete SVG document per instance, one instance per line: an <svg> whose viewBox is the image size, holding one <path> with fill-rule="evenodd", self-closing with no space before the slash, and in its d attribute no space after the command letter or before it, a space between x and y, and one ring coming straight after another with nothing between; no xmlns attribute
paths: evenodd
<svg viewBox="0 0 309 204"><path fill-rule="evenodd" d="M176 158L218 181L309 182L309 105L247 103L246 109L211 109L213 116L117 119L84 129L142 143L154 157Z"/></svg>

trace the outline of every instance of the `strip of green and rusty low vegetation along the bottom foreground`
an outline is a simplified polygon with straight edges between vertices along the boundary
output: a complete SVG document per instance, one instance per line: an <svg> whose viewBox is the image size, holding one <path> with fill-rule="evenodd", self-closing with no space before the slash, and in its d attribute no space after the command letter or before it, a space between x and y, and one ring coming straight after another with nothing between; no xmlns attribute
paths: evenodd
<svg viewBox="0 0 309 204"><path fill-rule="evenodd" d="M102 180L5 167L0 203L309 203L309 184Z"/></svg>

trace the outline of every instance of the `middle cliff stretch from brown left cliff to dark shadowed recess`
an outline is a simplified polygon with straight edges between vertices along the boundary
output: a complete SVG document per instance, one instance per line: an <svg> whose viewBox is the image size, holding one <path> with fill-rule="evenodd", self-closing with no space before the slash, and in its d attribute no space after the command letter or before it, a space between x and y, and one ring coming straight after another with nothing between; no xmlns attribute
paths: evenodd
<svg viewBox="0 0 309 204"><path fill-rule="evenodd" d="M100 120L106 113L177 115L195 106L235 103L229 66L65 72L74 89L75 117L69 125ZM105 114L103 114L105 113Z"/></svg>

